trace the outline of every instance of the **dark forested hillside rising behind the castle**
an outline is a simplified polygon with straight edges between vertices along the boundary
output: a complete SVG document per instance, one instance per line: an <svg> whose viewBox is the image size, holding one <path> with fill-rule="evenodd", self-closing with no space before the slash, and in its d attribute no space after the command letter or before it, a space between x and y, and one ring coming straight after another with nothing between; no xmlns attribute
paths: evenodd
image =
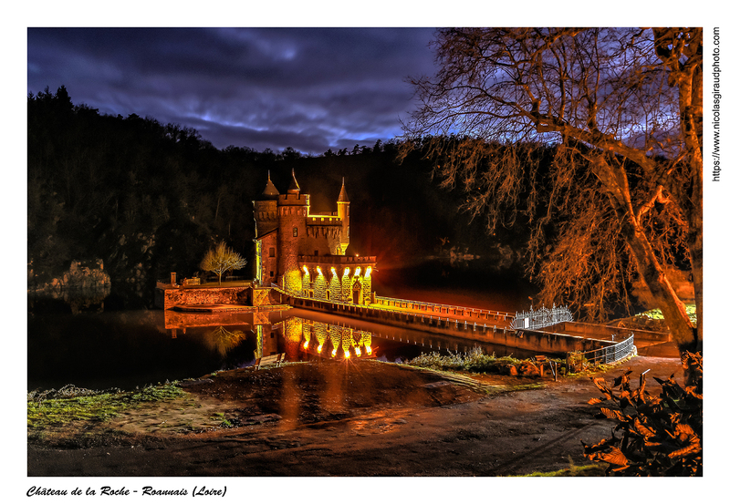
<svg viewBox="0 0 730 504"><path fill-rule="evenodd" d="M348 252L378 255L383 270L451 248L498 250L478 221L458 214L458 195L438 190L418 153L397 162L393 140L318 156L216 149L193 129L74 105L65 87L30 94L27 114L29 289L71 261L101 259L112 289L149 300L156 280L193 275L220 240L248 259L237 274L251 276L252 201L267 172L283 191L292 169L313 211L336 210L345 178Z"/></svg>

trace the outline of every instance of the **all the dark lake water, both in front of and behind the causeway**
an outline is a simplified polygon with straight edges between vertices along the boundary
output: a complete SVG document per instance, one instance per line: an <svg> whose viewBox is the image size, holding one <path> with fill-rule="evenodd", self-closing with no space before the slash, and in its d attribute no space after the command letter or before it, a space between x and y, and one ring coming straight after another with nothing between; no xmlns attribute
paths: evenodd
<svg viewBox="0 0 730 504"><path fill-rule="evenodd" d="M381 268L379 275L381 295L510 312L529 306L529 291L514 276L485 276L472 266L427 262L411 269ZM287 310L255 320L253 314L124 309L132 301L109 291L28 297L28 390L68 384L133 388L245 367L256 356L273 353L306 361L342 359L348 351L352 359L398 362L422 353L464 353L478 345L488 354L531 355L317 312Z"/></svg>

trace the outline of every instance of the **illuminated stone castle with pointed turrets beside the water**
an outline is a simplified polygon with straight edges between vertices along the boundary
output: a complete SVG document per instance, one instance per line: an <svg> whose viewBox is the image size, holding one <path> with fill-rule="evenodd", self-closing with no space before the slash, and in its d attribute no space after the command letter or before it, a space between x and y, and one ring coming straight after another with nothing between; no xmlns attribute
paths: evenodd
<svg viewBox="0 0 730 504"><path fill-rule="evenodd" d="M370 304L375 257L345 255L349 245L349 198L345 180L337 211L309 212L294 170L286 194L269 176L254 201L255 280L275 283L297 296L337 303Z"/></svg>

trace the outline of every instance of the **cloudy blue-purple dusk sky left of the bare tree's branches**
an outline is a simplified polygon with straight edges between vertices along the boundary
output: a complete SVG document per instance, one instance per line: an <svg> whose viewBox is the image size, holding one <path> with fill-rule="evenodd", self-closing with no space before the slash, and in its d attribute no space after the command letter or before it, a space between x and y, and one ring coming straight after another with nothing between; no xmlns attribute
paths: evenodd
<svg viewBox="0 0 730 504"><path fill-rule="evenodd" d="M319 154L391 139L433 28L28 28L27 90L229 145Z"/></svg>

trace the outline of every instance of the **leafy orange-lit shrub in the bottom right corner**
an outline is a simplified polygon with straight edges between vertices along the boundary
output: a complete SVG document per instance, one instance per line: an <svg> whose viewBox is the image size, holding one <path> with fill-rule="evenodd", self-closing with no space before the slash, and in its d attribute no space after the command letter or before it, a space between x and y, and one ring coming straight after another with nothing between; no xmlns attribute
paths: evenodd
<svg viewBox="0 0 730 504"><path fill-rule="evenodd" d="M612 401L614 407L601 407L600 415L619 423L609 439L592 446L581 441L584 455L608 462L609 475L702 476L702 355L684 352L682 365L696 385L680 386L674 375L668 380L654 378L662 385L659 396L646 392L646 372L636 390L631 390L631 370L615 378L613 386L591 377L603 397L590 399L589 404ZM612 390L616 386L618 393ZM616 437L617 431L623 435Z"/></svg>

